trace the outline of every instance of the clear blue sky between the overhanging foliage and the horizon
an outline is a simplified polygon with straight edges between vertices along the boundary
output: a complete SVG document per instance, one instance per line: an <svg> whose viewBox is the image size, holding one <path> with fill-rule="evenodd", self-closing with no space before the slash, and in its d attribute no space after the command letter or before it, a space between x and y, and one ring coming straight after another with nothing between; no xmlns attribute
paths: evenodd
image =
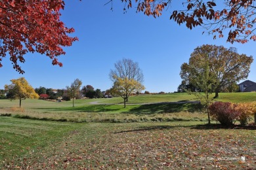
<svg viewBox="0 0 256 170"><path fill-rule="evenodd" d="M160 18L137 14L135 9L123 14L123 5L116 1L114 11L108 0L65 1L62 21L74 27L79 41L65 48L66 55L60 56L63 67L51 65L51 59L40 54L27 54L26 62L20 64L26 72L18 74L12 69L9 58L3 59L0 68L0 89L10 80L24 76L38 88L66 88L75 78L83 85L95 89L111 88L108 74L114 63L122 58L133 59L139 63L144 74L144 86L149 92L175 92L181 84L181 65L188 62L194 48L203 44L234 46L239 54L255 56L255 42L230 44L226 39L213 40L202 35L201 28L187 29L169 20L170 12L164 11ZM173 4L172 8L176 5ZM225 37L224 37L225 38ZM256 61L251 65L247 79L256 82Z"/></svg>

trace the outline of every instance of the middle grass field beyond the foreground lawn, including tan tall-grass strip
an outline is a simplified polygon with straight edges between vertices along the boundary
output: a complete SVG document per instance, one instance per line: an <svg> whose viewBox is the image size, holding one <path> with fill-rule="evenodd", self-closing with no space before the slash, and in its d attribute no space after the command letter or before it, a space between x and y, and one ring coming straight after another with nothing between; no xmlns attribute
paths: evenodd
<svg viewBox="0 0 256 170"><path fill-rule="evenodd" d="M256 93L219 93L219 95L218 101L234 103L251 102L256 98ZM121 97L79 99L75 100L75 107L72 107L72 101L26 99L22 101L22 109L18 108L18 100L0 100L0 114L11 114L16 118L62 122L206 121L207 116L203 114L200 105L184 103L195 100L194 95L187 93L135 95L129 97L127 106L124 108Z"/></svg>

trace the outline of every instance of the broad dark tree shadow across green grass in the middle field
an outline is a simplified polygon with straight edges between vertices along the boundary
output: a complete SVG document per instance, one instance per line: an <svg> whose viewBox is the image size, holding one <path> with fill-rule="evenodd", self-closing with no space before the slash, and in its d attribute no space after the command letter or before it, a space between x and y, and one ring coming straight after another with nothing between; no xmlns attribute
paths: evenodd
<svg viewBox="0 0 256 170"><path fill-rule="evenodd" d="M196 112L202 109L199 103L156 103L148 105L140 105L130 109L129 112L133 114L156 114L165 112Z"/></svg>

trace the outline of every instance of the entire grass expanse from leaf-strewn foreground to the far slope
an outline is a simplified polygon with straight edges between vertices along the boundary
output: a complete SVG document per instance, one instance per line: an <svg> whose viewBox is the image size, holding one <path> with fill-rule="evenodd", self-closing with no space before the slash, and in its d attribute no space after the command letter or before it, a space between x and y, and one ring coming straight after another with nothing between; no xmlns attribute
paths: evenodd
<svg viewBox="0 0 256 170"><path fill-rule="evenodd" d="M219 101L235 103L256 97L256 93L219 95ZM214 121L206 126L200 105L168 103L194 101L186 93L132 96L126 108L122 101L83 99L72 107L72 101L26 99L19 109L18 101L0 100L1 169L256 167L255 126L226 129Z"/></svg>

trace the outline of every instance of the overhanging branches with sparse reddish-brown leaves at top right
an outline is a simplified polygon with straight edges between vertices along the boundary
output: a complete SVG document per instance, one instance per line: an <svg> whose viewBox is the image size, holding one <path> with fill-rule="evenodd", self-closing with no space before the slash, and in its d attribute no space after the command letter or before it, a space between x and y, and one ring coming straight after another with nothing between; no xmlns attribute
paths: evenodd
<svg viewBox="0 0 256 170"><path fill-rule="evenodd" d="M112 2L114 0L110 0ZM144 12L147 16L161 16L164 9L172 10L171 0L121 0L129 9L135 5L137 12ZM213 38L224 37L228 42L245 43L250 39L256 41L256 2L255 0L224 0L203 1L183 0L183 9L171 11L171 20L177 24L186 24L192 29L196 26L204 27Z"/></svg>

